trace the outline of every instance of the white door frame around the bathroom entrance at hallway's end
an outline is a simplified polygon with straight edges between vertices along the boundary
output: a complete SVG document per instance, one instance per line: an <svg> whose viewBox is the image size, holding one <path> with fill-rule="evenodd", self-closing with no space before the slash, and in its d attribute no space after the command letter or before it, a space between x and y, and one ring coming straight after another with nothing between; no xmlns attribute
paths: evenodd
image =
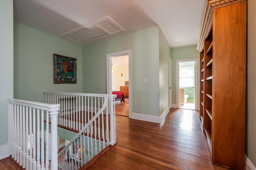
<svg viewBox="0 0 256 170"><path fill-rule="evenodd" d="M195 61L196 68L195 68L195 109L199 110L199 96L200 96L200 59L199 58L190 58L190 59L177 59L176 60L176 108L180 108L180 62L189 62L189 61Z"/></svg>

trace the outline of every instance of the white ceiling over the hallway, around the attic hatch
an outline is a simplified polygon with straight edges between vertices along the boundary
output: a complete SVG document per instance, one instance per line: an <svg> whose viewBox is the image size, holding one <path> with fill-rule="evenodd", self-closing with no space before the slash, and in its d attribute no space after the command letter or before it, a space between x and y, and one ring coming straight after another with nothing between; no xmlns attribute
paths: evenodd
<svg viewBox="0 0 256 170"><path fill-rule="evenodd" d="M197 44L205 5L206 0L14 0L14 21L60 37L108 16L125 30L114 36L159 25L175 48Z"/></svg>

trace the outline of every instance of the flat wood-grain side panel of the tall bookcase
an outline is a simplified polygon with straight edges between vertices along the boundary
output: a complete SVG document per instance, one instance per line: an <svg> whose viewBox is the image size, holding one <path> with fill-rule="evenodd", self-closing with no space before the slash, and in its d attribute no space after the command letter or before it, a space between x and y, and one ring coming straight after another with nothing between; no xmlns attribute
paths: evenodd
<svg viewBox="0 0 256 170"><path fill-rule="evenodd" d="M244 169L246 1L213 11L213 162Z"/></svg>

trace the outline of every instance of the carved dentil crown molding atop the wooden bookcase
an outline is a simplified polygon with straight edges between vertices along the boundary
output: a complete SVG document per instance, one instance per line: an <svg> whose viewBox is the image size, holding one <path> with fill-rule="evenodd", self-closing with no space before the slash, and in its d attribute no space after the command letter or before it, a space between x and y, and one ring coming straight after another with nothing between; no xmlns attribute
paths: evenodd
<svg viewBox="0 0 256 170"><path fill-rule="evenodd" d="M205 12L204 12L204 20L202 23L200 37L199 37L199 41L198 41L197 48L196 48L198 51L200 51L200 52L203 51L204 40L207 38L207 36L212 28L213 9L231 5L231 4L238 3L238 2L242 2L242 1L246 1L246 0L207 0Z"/></svg>

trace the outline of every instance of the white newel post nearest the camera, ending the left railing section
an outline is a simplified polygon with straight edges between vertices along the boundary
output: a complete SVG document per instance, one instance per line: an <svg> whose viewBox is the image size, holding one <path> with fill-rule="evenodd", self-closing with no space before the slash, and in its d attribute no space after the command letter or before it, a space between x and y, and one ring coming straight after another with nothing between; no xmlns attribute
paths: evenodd
<svg viewBox="0 0 256 170"><path fill-rule="evenodd" d="M51 169L58 169L58 114L60 110L60 104L48 105L49 115L51 118Z"/></svg>

